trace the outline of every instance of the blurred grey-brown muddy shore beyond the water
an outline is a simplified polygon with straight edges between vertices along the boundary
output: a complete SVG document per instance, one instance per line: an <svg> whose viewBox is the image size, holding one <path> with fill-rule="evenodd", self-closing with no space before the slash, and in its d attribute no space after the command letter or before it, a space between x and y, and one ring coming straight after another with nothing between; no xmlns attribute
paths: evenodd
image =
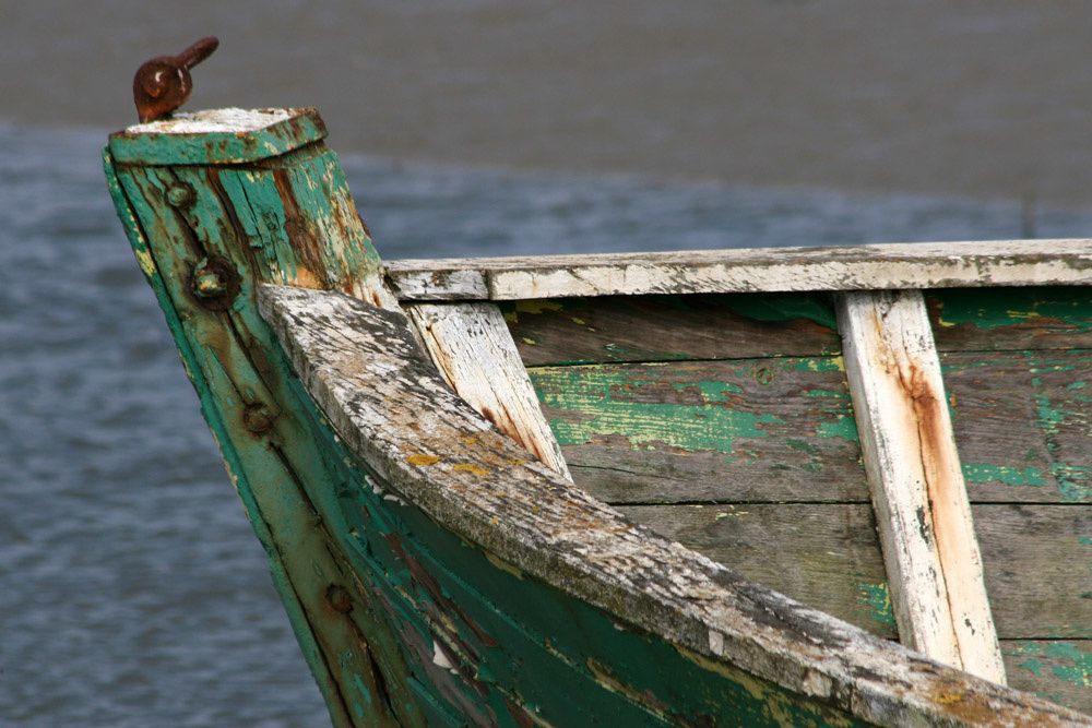
<svg viewBox="0 0 1092 728"><path fill-rule="evenodd" d="M13 5L0 116L123 127L140 61L215 33L191 108L313 105L342 153L1092 206L1092 4L1079 0L261 10Z"/></svg>

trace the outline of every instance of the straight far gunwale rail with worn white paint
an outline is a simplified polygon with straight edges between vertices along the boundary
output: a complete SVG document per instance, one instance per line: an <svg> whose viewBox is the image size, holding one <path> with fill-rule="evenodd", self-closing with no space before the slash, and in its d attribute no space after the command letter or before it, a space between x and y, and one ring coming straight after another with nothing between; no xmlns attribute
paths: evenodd
<svg viewBox="0 0 1092 728"><path fill-rule="evenodd" d="M387 276L401 299L512 300L1081 285L1090 268L1092 239L1060 239L404 260Z"/></svg>

